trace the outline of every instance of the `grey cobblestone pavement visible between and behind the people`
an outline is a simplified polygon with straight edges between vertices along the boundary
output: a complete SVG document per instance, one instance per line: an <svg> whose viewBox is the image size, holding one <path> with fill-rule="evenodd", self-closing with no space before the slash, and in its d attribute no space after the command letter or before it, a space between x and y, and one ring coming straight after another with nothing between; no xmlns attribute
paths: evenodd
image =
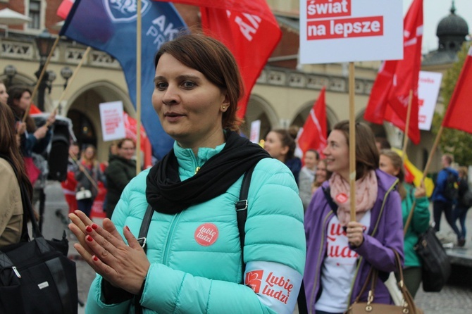
<svg viewBox="0 0 472 314"><path fill-rule="evenodd" d="M61 218L56 215L56 211L59 210L59 212L66 217L68 206L64 200L61 185L58 182L48 182L44 191L46 193L46 208L43 218L43 234L46 239L51 239L52 237L59 238L63 230L67 230L67 225L66 221L61 220ZM467 225L470 226L468 230L471 230L471 232L470 235L468 235L465 249L472 252L472 210L468 212ZM454 234L451 233L445 219L442 222L441 228L441 236L454 241ZM95 274L87 263L78 258L78 253L73 248L73 243L75 242L73 235L70 235L69 241L69 256L75 259L77 265L79 299L85 303L85 301L87 301L90 284ZM471 276L468 278L470 280ZM425 314L472 313L472 282L461 282L461 280L459 280L458 284L447 284L439 293L426 293L423 292L420 287L416 294L415 303L419 308L423 309ZM79 306L79 314L82 313L85 313L85 308ZM298 313L298 311L295 310L294 313Z"/></svg>

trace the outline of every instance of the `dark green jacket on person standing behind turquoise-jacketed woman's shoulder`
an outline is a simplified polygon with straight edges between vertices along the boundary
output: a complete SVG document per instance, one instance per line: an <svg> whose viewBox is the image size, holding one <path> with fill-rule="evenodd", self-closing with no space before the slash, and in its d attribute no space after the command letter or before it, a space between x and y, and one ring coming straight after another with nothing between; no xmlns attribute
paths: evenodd
<svg viewBox="0 0 472 314"><path fill-rule="evenodd" d="M107 216L111 217L116 203L120 200L121 192L123 192L123 189L125 189L131 179L136 176L136 162L113 155L108 162L105 176L106 188L108 189L105 210Z"/></svg>

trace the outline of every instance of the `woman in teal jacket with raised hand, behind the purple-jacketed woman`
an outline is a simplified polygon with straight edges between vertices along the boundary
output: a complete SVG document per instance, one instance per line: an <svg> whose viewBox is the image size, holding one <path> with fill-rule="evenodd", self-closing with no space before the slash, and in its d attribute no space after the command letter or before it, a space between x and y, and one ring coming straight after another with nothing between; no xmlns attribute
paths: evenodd
<svg viewBox="0 0 472 314"><path fill-rule="evenodd" d="M402 197L403 225L406 224L411 206L413 206L413 202L416 200L413 217L404 236L405 262L403 270L406 288L410 291L411 296L415 297L416 291L418 291L421 284L422 275L421 260L414 246L418 242L418 235L426 232L428 229L430 222L429 201L424 187L415 188L404 182L405 175L402 157L395 151L385 149L380 152L379 168L390 175L395 175L399 179L398 191Z"/></svg>

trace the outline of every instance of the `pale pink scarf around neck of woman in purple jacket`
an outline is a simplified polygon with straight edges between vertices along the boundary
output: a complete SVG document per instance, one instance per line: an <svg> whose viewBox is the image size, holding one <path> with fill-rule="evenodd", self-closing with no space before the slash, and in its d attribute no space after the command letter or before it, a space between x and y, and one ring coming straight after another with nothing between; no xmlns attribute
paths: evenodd
<svg viewBox="0 0 472 314"><path fill-rule="evenodd" d="M337 208L337 218L344 227L351 220L349 182L336 172L333 172L329 182L331 197L339 206ZM356 181L356 221L361 220L362 216L373 208L373 203L377 199L377 191L377 177L374 170L371 170L367 175Z"/></svg>

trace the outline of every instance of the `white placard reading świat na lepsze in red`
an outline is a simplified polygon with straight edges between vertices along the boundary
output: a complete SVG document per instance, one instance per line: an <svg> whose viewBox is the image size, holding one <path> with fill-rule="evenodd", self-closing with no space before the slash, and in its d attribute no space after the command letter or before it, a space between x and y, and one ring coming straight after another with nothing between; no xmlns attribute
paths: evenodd
<svg viewBox="0 0 472 314"><path fill-rule="evenodd" d="M300 63L403 58L403 4L300 0Z"/></svg>

